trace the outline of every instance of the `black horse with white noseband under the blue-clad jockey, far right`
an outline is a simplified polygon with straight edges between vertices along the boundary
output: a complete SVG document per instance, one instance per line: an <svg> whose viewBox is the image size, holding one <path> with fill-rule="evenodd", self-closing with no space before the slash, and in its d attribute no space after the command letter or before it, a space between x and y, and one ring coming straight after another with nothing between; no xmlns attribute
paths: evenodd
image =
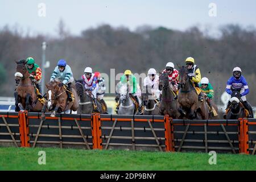
<svg viewBox="0 0 256 182"><path fill-rule="evenodd" d="M231 106L228 108L225 119L238 119L238 118L246 118L247 114L245 111L245 107L242 105L240 92L234 90L231 94L230 98Z"/></svg>

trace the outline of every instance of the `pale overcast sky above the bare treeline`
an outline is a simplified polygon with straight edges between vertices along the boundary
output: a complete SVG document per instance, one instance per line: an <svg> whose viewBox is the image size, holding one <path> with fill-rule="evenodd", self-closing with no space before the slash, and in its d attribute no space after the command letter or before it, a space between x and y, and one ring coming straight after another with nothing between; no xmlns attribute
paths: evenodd
<svg viewBox="0 0 256 182"><path fill-rule="evenodd" d="M40 3L46 6L46 16ZM216 5L216 16L210 3ZM30 34L57 35L57 24L63 19L69 32L80 35L82 30L95 28L101 24L113 27L127 27L134 31L138 26L163 26L184 31L198 26L208 27L215 34L225 24L240 24L242 27L256 27L256 1L166 1L166 0L0 0L0 28L22 27ZM42 15L42 14L41 14Z"/></svg>

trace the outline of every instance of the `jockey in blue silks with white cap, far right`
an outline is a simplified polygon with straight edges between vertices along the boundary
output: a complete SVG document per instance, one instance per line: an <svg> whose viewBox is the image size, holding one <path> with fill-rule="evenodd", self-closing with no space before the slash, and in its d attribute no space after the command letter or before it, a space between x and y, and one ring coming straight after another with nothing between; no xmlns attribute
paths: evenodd
<svg viewBox="0 0 256 182"><path fill-rule="evenodd" d="M249 87L245 80L245 77L242 76L242 70L239 67L233 69L233 76L229 78L228 82L226 83L226 93L232 94L233 90L238 90L240 92L240 97L243 101L243 105L245 109L247 109L250 113L249 117L253 117L253 111L249 106L248 102L246 101L246 95L249 94ZM230 106L230 102L226 109Z"/></svg>

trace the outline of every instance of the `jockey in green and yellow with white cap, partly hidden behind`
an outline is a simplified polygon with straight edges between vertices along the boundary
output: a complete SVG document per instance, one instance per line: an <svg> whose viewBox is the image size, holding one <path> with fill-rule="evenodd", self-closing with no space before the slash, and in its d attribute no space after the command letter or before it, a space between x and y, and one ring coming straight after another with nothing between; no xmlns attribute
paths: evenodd
<svg viewBox="0 0 256 182"><path fill-rule="evenodd" d="M201 82L199 84L199 87L201 88L201 91L203 92L203 94L205 96L207 96L207 102L208 102L208 105L210 107L210 112L212 113L212 104L211 104L211 101L213 99L213 96L214 96L214 92L213 92L213 87L212 87L212 84L210 84L209 80L207 77L203 77L201 79Z"/></svg>

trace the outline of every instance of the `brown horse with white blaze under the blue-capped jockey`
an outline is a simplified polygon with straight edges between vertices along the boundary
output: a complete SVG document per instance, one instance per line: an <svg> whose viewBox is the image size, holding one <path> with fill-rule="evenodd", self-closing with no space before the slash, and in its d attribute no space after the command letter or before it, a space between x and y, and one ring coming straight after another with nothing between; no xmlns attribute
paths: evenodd
<svg viewBox="0 0 256 182"><path fill-rule="evenodd" d="M59 86L60 81L55 79L54 81L48 82L46 84L47 92L46 98L47 102L44 104L42 109L42 119L45 119L46 108L49 111L52 111L51 117L55 117L56 113L62 113L70 109L70 113L76 111L79 107L78 96L76 93L76 89L72 85L72 93L74 100L73 102L68 102L68 95L64 86Z"/></svg>

